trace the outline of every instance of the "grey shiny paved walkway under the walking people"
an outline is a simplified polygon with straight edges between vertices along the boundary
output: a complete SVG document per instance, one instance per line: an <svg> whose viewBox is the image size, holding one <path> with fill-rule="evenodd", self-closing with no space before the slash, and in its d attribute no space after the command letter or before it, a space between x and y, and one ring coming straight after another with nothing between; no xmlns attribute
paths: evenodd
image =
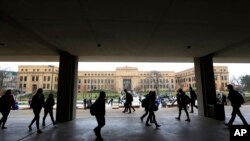
<svg viewBox="0 0 250 141"><path fill-rule="evenodd" d="M250 106L241 108L243 115L250 123ZM191 114L191 122L175 120L178 114L177 108L160 108L156 112L159 129L146 127L141 123L140 116L143 109L136 109L132 114L123 114L123 109L111 109L107 106L106 125L102 130L106 141L227 141L229 130L223 125L223 121L205 118L197 115L197 111ZM226 120L230 118L231 107L227 106ZM5 130L0 129L1 141L93 141L95 135L93 128L97 125L96 120L88 110L78 109L77 118L70 122L51 124L47 118L47 126L42 128L42 134L36 134L35 125L33 130L28 130L28 125L33 118L31 110L11 111ZM236 118L235 124L242 124Z"/></svg>

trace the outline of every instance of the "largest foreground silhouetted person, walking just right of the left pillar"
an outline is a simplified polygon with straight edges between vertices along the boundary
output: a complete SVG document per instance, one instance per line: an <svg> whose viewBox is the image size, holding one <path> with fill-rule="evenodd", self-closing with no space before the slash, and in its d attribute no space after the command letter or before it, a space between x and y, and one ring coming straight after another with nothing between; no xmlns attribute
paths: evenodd
<svg viewBox="0 0 250 141"><path fill-rule="evenodd" d="M105 97L105 92L101 91L95 103L91 105L91 107L94 107L95 117L98 123L97 127L94 129L97 141L103 140L101 136L101 128L105 125Z"/></svg>

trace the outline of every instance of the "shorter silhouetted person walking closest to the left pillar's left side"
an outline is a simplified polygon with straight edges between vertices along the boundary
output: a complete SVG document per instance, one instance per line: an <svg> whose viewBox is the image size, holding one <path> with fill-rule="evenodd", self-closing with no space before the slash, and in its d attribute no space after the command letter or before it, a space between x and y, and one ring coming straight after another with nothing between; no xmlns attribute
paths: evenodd
<svg viewBox="0 0 250 141"><path fill-rule="evenodd" d="M56 122L54 120L53 116L53 106L55 105L55 100L53 97L53 94L49 94L49 97L47 98L46 102L44 103L44 116L43 116L43 126L45 126L45 119L47 115L50 115L51 121L53 125L56 125Z"/></svg>

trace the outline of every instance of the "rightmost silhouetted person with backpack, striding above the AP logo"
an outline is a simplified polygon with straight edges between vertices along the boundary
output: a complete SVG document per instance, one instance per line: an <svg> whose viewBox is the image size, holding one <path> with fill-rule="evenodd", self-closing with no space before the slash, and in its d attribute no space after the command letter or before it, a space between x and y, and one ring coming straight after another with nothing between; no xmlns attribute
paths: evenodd
<svg viewBox="0 0 250 141"><path fill-rule="evenodd" d="M229 91L228 93L228 99L231 101L231 105L233 107L232 116L228 123L224 123L226 126L231 126L235 120L236 114L240 117L244 125L248 125L246 119L243 117L243 115L240 112L240 107L244 103L244 98L242 95L234 90L233 85L229 84L227 85L227 89Z"/></svg>

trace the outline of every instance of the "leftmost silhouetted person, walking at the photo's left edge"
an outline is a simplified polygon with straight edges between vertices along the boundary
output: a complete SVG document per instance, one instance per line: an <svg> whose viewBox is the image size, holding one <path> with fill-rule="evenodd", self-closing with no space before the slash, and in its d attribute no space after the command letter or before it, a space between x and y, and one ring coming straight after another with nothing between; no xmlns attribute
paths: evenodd
<svg viewBox="0 0 250 141"><path fill-rule="evenodd" d="M2 126L2 129L6 129L5 123L8 119L8 116L10 114L10 110L15 109L15 101L14 97L12 95L11 90L7 90L5 94L0 98L0 112L2 113L3 117L0 120L0 126Z"/></svg>

